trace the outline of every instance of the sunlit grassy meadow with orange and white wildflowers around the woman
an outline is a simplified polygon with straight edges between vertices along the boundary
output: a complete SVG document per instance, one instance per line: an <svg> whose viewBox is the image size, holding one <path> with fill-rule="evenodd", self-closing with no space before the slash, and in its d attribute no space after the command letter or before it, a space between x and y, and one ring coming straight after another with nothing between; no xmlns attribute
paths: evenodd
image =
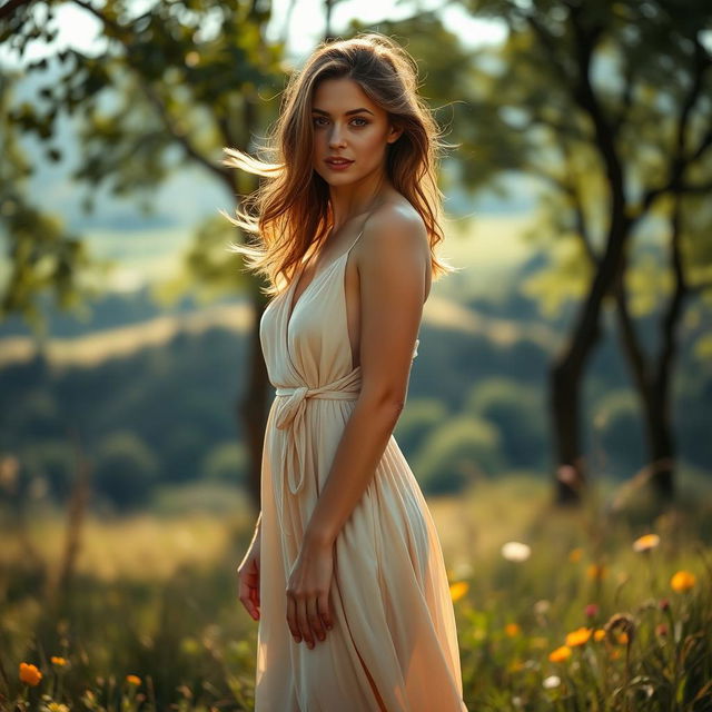
<svg viewBox="0 0 712 712"><path fill-rule="evenodd" d="M429 500L471 711L712 710L712 497L682 484L657 514L642 493L613 506L604 479L556 510L526 473ZM3 513L3 710L253 709L236 568L254 514L210 487L122 517Z"/></svg>

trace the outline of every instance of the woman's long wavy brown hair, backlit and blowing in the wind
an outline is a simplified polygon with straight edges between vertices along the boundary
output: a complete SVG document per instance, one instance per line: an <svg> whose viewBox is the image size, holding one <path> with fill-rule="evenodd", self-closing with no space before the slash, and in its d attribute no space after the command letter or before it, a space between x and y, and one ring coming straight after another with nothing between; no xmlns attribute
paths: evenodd
<svg viewBox="0 0 712 712"><path fill-rule="evenodd" d="M443 194L437 186L443 148L441 129L418 96L417 65L395 40L365 32L347 40L322 42L301 71L295 71L284 91L279 117L267 135L260 160L224 147L222 164L265 180L243 199L247 212L233 225L255 236L250 244L231 243L246 267L267 277L265 293L274 296L288 285L310 248L318 248L333 227L328 184L313 168L312 102L324 79L349 78L385 110L400 137L387 146L387 174L393 187L418 211L428 233L433 279L454 271L437 257L444 239L441 227ZM260 151L260 149L258 149Z"/></svg>

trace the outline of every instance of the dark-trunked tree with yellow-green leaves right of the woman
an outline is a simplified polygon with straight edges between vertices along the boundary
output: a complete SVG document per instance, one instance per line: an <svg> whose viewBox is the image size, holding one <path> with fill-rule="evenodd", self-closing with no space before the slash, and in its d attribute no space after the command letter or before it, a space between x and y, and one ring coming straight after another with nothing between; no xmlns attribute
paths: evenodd
<svg viewBox="0 0 712 712"><path fill-rule="evenodd" d="M542 227L540 234L577 246L568 265L578 273L572 278L582 298L550 383L557 472L568 475L557 478L557 501L577 502L586 481L581 389L606 306L617 308L650 458L663 463L655 482L671 494L669 394L676 328L683 295L709 286L684 276L680 224L683 210L694 210L694 197L712 189L711 58L703 34L712 10L690 2L681 12L666 0L464 6L501 18L508 30L504 44L476 68L473 102L485 119L469 129L473 142L498 146L501 169L513 167L516 148L515 166L548 186L550 233ZM496 152L483 158L496 160ZM657 366L647 366L626 309L625 280L634 241L649 218L660 216L671 236L678 235L671 237L670 260L679 286L663 318Z"/></svg>

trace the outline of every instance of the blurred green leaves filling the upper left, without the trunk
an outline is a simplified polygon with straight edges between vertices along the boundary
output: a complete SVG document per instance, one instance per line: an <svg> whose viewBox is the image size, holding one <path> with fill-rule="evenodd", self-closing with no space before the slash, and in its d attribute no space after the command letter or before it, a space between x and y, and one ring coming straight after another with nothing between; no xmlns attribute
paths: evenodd
<svg viewBox="0 0 712 712"><path fill-rule="evenodd" d="M28 42L51 42L57 33L55 4L3 8L0 42L7 41L20 58ZM33 103L13 106L9 78L0 83L7 159L0 174L0 220L9 236L12 268L0 316L21 314L38 329L40 293L51 290L67 308L82 306L96 295L108 264L90 259L81 236L66 234L24 198L20 178L32 168L23 162L16 135L33 136L48 160L61 160L51 141L59 117L72 115L81 154L73 157L71 178L90 188L85 209L93 209L97 189L107 186L115 195L135 198L150 214L155 191L186 164L204 168L230 197L236 188L240 194L255 188L251 176L237 176L218 161L225 146L248 149L258 125L276 112L276 103L265 97L276 97L284 83L284 48L265 37L269 3L158 2L137 14L121 0L109 0L85 11L99 28L99 55L72 47L52 52L50 47L48 59L24 62L22 70L40 80L52 66L38 92L41 100ZM42 14L44 21L38 22ZM215 218L198 230L186 275L172 285L172 298L176 288L185 291L194 284L208 285L211 294L244 289L236 261L227 259L226 250L218 251L220 243L225 248L235 239L221 222ZM210 261L201 258L206 240L214 244ZM95 291L85 284L87 276L95 279Z"/></svg>

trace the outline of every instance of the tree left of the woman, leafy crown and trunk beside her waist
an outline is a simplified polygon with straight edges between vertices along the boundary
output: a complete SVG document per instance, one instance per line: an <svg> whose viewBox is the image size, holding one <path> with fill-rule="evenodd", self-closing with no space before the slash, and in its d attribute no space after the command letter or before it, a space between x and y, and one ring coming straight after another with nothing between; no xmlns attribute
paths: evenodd
<svg viewBox="0 0 712 712"><path fill-rule="evenodd" d="M264 39L268 2L178 0L154 3L135 16L121 0L101 6L85 0L11 0L0 9L0 41L20 58L30 40L51 41L53 12L60 4L79 7L98 21L101 50L96 56L77 49L58 52L52 60L61 77L42 89L48 108L12 109L10 122L48 141L59 111L79 113L82 155L72 177L89 186L109 184L115 194L136 195L146 209L152 191L184 164L202 167L231 197L250 192L253 177L236 175L220 160L222 147L248 150L253 131L275 111L265 97L277 96L281 87L283 46ZM40 10L43 17L38 19ZM44 60L30 62L24 71L46 67ZM90 197L87 207L92 207ZM22 236L18 226L9 227L12 254ZM190 266L195 280L220 278L229 289L246 291L254 305L247 388L238 411L250 452L250 493L259 502L268 382L258 328L266 298L261 285L240 273L239 261L227 259L231 229L227 221L222 231L199 228L201 249L211 255L220 250L219 265L200 259ZM67 245L78 248L80 243ZM37 247L41 253L42 246ZM10 294L8 303L16 301L17 295Z"/></svg>

